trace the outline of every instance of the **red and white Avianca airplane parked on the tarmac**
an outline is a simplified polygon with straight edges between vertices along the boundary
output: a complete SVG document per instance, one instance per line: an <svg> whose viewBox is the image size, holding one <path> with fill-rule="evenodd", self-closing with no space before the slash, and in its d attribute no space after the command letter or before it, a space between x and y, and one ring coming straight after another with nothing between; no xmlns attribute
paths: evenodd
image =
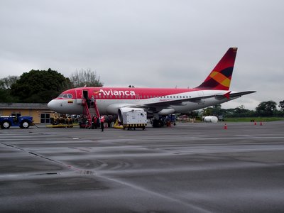
<svg viewBox="0 0 284 213"><path fill-rule="evenodd" d="M212 72L198 87L138 88L138 87L80 87L68 89L48 103L48 108L62 114L83 114L84 99L94 96L99 114L117 115L142 108L148 117L188 113L222 104L256 91L234 92L230 83L237 48L229 48Z"/></svg>

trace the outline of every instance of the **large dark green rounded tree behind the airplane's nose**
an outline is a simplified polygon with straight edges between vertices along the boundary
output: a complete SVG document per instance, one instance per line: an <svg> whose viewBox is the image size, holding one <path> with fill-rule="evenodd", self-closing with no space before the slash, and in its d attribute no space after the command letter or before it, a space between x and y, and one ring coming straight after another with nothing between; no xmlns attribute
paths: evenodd
<svg viewBox="0 0 284 213"><path fill-rule="evenodd" d="M55 70L31 70L11 85L11 95L19 102L47 103L71 87L70 80Z"/></svg>

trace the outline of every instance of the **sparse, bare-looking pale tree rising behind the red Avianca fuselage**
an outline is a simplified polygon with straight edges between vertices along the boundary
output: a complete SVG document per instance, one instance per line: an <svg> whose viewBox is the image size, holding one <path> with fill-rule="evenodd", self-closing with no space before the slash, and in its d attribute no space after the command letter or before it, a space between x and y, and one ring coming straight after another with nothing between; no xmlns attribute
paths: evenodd
<svg viewBox="0 0 284 213"><path fill-rule="evenodd" d="M70 81L72 82L74 87L102 87L103 83L100 82L99 76L97 76L96 72L92 72L91 70L76 70L70 76Z"/></svg>

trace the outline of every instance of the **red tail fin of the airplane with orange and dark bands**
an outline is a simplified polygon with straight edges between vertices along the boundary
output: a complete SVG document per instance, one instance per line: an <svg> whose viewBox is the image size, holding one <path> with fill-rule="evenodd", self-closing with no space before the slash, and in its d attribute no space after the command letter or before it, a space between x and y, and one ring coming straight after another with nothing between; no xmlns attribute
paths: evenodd
<svg viewBox="0 0 284 213"><path fill-rule="evenodd" d="M237 50L238 48L229 48L204 82L196 88L229 90Z"/></svg>

